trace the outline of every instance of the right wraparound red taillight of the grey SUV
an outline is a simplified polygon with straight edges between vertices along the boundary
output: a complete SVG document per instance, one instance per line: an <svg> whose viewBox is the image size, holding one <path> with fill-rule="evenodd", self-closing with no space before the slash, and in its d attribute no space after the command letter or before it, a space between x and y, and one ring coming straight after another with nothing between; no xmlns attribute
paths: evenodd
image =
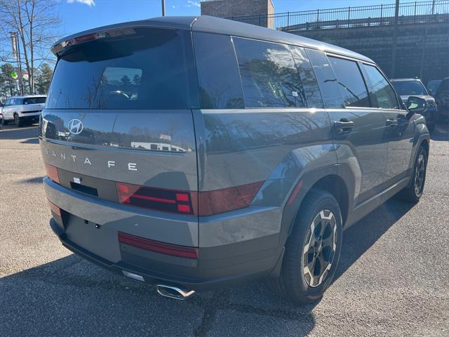
<svg viewBox="0 0 449 337"><path fill-rule="evenodd" d="M250 206L264 182L193 192L116 183L121 204L181 214L211 216Z"/></svg>

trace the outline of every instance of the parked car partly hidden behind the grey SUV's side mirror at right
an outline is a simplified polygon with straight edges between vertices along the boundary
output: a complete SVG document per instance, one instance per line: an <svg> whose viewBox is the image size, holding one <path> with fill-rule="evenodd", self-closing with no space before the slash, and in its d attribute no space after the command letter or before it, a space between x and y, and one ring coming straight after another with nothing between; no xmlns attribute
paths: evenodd
<svg viewBox="0 0 449 337"><path fill-rule="evenodd" d="M422 81L420 79L391 79L391 84L396 88L396 92L401 95L404 104L407 103L410 95L423 98L427 101L427 109L421 112L421 114L426 118L429 131L434 131L438 120L438 110L435 98L429 95Z"/></svg>

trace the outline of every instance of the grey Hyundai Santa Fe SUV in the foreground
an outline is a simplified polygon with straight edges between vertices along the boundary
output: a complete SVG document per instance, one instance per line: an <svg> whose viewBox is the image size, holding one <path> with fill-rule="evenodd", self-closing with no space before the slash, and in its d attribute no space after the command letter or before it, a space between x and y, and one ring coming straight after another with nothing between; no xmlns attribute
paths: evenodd
<svg viewBox="0 0 449 337"><path fill-rule="evenodd" d="M317 300L343 230L422 195L427 100L406 110L358 53L209 16L100 27L52 51L50 226L163 296L269 278Z"/></svg>

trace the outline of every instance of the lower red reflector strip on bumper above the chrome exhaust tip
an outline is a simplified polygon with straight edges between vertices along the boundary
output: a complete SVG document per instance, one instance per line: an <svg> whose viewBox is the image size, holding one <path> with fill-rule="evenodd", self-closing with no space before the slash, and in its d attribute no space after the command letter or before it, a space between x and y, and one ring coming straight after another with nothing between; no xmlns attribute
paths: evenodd
<svg viewBox="0 0 449 337"><path fill-rule="evenodd" d="M176 246L174 244L164 244L143 237L119 232L119 242L128 244L147 251L156 251L157 253L167 254L171 256L179 256L181 258L198 258L198 249L185 246Z"/></svg>

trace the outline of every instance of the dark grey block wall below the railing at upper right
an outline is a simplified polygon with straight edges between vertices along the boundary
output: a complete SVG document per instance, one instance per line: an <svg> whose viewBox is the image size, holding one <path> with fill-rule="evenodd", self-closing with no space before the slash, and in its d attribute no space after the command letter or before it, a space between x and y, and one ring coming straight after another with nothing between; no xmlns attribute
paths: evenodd
<svg viewBox="0 0 449 337"><path fill-rule="evenodd" d="M393 26L317 29L297 32L356 51L377 62L389 76ZM424 62L422 62L424 60ZM449 22L398 26L394 77L420 77L424 81L449 76Z"/></svg>

